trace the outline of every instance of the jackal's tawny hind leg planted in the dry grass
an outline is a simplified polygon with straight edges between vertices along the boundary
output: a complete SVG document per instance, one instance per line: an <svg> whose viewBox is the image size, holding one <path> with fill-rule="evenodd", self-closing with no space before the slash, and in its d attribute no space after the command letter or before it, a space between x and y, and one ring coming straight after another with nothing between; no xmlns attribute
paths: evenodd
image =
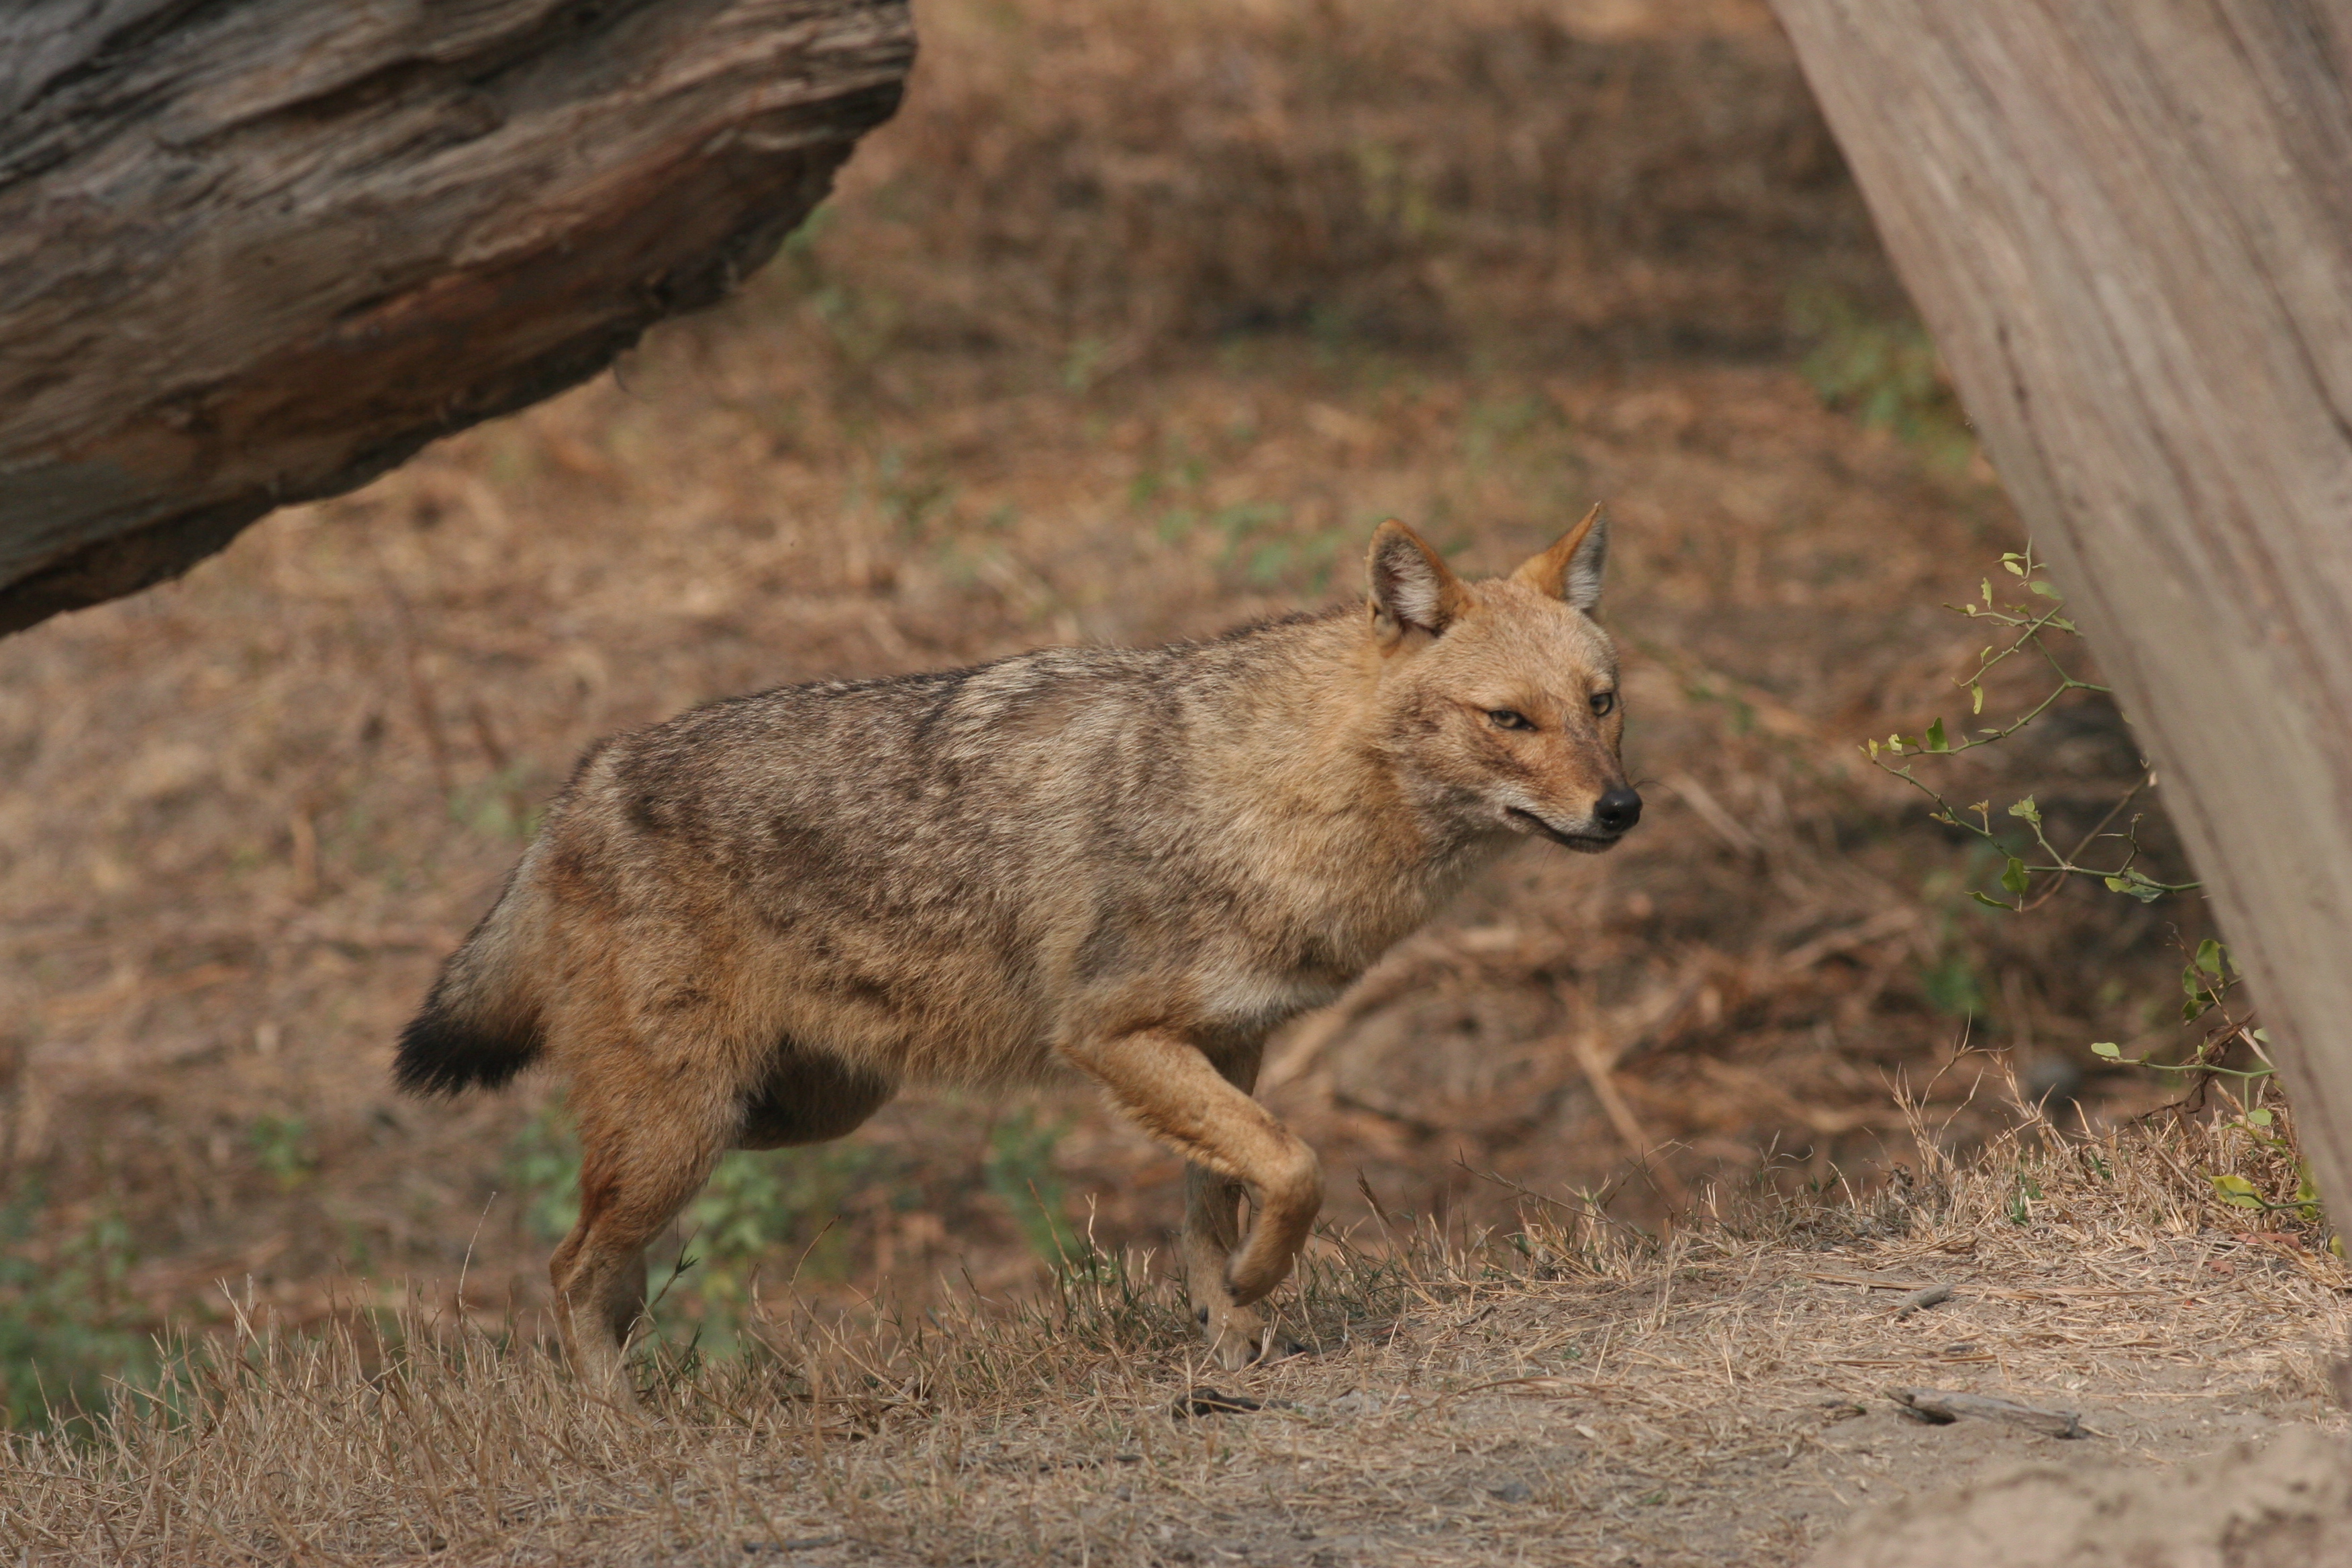
<svg viewBox="0 0 2352 1568"><path fill-rule="evenodd" d="M548 1262L572 1368L623 1406L635 1401L628 1340L644 1316L644 1248L710 1180L739 1117L724 1084L691 1081L691 1072L630 1079L572 1086L581 1218Z"/></svg>

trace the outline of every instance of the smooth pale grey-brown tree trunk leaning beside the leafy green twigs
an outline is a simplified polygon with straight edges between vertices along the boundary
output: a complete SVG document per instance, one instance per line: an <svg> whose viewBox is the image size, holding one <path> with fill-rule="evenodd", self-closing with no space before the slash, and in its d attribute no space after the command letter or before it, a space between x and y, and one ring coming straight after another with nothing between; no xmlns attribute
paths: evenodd
<svg viewBox="0 0 2352 1568"><path fill-rule="evenodd" d="M1776 0L2352 1222L2352 7Z"/></svg>

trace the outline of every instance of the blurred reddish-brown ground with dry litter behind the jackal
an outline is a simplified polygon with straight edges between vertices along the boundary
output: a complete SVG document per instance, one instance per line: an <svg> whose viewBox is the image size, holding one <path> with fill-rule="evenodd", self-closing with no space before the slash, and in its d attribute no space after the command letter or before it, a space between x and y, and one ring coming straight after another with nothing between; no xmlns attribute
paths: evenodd
<svg viewBox="0 0 2352 1568"><path fill-rule="evenodd" d="M1905 1084L1952 1143L2020 1093L2157 1103L2089 1041L2173 1044L2201 910L1985 910L1999 856L1860 752L1966 719L1985 637L1943 607L2025 541L1762 2L920 26L906 108L729 306L0 642L14 1418L230 1298L299 1326L414 1288L539 1331L553 1086L421 1105L386 1067L593 738L1327 604L1388 515L1496 571L1611 505L1651 809L1609 858L1515 853L1275 1041L1334 1225L1867 1187L1915 1159ZM2060 842L2138 776L2098 696L1987 755L1952 797L2034 790ZM1018 1298L1089 1237L1164 1253L1178 1185L1082 1086L917 1093L731 1157L661 1309L724 1342L760 1291Z"/></svg>

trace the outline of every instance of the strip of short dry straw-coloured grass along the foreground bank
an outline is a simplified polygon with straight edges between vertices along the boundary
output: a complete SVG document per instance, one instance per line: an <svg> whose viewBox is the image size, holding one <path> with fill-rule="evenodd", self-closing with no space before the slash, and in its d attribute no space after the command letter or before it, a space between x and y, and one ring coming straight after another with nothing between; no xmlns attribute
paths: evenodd
<svg viewBox="0 0 2352 1568"><path fill-rule="evenodd" d="M1933 1140L1926 1140L1929 1145ZM242 1319L92 1436L0 1450L26 1563L1790 1563L1853 1505L2053 1439L1917 1427L1889 1385L2084 1413L2070 1458L2343 1427L2352 1274L2206 1173L2241 1131L2027 1124L1867 1201L1764 1199L1649 1239L1536 1206L1501 1237L1338 1239L1289 1314L1322 1354L1218 1394L1148 1260L1025 1307L764 1321L649 1368L642 1415L433 1312ZM2288 1178L2291 1180L2291 1178ZM2032 1197L2027 1197L2032 1194ZM1955 1286L1898 1319L1896 1293ZM1230 1401L1228 1401L1230 1403Z"/></svg>

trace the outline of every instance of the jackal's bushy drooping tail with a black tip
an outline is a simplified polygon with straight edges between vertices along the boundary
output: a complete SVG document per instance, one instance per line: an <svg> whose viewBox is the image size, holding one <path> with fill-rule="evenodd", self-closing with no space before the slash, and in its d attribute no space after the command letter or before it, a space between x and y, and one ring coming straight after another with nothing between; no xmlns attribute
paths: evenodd
<svg viewBox="0 0 2352 1568"><path fill-rule="evenodd" d="M449 954L416 1018L400 1030L393 1081L416 1095L503 1088L546 1041L536 992L539 893L532 856L515 867L499 903Z"/></svg>

